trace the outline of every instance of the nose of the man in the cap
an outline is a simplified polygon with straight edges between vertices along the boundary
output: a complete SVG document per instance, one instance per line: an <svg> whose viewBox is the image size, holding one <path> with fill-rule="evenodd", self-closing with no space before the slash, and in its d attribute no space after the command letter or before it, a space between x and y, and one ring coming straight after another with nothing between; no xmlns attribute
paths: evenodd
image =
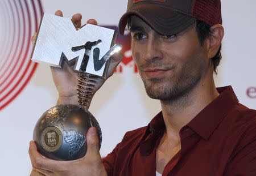
<svg viewBox="0 0 256 176"><path fill-rule="evenodd" d="M159 42L160 41L158 40L158 38L148 36L148 40L145 45L145 50L143 54L143 58L146 61L152 62L158 59L162 59L163 53Z"/></svg>

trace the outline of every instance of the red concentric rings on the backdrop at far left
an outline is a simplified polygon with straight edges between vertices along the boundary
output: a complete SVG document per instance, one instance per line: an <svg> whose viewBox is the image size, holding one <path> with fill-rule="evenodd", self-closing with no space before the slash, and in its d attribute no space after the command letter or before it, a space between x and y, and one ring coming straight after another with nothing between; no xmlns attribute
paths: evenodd
<svg viewBox="0 0 256 176"><path fill-rule="evenodd" d="M0 110L22 92L35 72L37 64L30 60L31 37L42 12L40 0L3 1L0 6L5 24L0 34Z"/></svg>

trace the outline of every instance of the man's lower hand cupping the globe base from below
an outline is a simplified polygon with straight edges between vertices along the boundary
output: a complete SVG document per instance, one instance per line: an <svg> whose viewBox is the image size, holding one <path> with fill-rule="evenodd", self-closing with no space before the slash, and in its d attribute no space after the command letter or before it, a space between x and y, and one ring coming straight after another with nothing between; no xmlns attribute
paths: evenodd
<svg viewBox="0 0 256 176"><path fill-rule="evenodd" d="M98 148L98 136L95 127L90 127L86 135L87 151L84 157L73 161L55 161L44 158L37 151L34 142L30 142L30 160L33 167L31 176L40 175L107 175Z"/></svg>

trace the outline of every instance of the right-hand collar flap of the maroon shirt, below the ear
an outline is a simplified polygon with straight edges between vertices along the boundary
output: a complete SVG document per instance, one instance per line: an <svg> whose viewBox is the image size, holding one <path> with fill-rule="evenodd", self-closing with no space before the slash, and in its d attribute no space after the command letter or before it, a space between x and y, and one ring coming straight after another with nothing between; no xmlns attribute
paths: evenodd
<svg viewBox="0 0 256 176"><path fill-rule="evenodd" d="M238 103L237 96L231 86L217 88L217 91L220 95L187 125L205 140L212 135L230 109Z"/></svg>

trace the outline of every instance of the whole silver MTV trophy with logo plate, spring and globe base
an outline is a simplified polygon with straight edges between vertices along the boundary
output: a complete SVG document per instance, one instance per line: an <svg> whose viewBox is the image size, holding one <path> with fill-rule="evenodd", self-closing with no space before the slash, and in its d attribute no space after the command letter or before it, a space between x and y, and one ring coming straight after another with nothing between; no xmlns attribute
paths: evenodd
<svg viewBox="0 0 256 176"><path fill-rule="evenodd" d="M78 72L79 105L57 105L47 110L34 128L38 151L53 160L76 160L86 153L86 133L92 126L102 141L97 120L83 106L94 94L96 78L106 79L109 58L121 50L114 45L115 31L86 24L78 31L70 19L44 14L32 61L62 67L64 61ZM69 80L67 80L69 81Z"/></svg>

